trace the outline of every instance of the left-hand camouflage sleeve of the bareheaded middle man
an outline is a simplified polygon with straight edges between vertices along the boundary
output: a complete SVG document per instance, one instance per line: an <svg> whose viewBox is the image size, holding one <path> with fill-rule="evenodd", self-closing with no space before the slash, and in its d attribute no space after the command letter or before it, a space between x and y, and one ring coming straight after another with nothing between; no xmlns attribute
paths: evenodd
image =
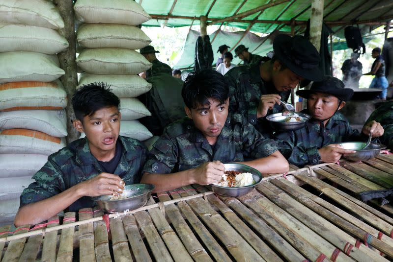
<svg viewBox="0 0 393 262"><path fill-rule="evenodd" d="M143 167L142 173L170 173L178 162L177 145L174 143L167 130L154 143L150 150L148 159Z"/></svg>

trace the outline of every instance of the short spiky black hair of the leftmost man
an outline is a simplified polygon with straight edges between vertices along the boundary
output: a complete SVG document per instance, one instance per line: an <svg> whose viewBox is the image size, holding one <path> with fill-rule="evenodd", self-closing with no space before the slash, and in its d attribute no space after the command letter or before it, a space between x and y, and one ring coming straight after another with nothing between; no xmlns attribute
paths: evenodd
<svg viewBox="0 0 393 262"><path fill-rule="evenodd" d="M111 91L110 86L102 82L78 88L71 100L75 117L82 121L85 116L90 117L102 108L114 106L119 109L120 99Z"/></svg>

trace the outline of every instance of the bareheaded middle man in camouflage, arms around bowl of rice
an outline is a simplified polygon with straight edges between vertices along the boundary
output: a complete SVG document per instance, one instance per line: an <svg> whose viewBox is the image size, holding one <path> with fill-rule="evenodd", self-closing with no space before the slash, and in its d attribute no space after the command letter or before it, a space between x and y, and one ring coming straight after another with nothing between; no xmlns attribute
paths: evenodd
<svg viewBox="0 0 393 262"><path fill-rule="evenodd" d="M264 138L240 115L228 117L229 89L215 70L190 74L182 96L186 119L167 126L149 152L141 183L167 191L221 180L223 163L240 162L261 173L278 173L289 165L278 145ZM253 159L245 162L245 158Z"/></svg>

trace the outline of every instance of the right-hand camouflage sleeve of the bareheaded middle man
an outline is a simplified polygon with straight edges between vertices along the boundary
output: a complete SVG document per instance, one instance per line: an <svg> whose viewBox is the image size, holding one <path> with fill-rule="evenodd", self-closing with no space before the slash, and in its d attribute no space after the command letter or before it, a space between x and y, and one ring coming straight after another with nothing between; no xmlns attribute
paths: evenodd
<svg viewBox="0 0 393 262"><path fill-rule="evenodd" d="M242 139L243 154L249 158L267 157L279 150L279 145L274 140L265 138L247 122L243 125Z"/></svg>

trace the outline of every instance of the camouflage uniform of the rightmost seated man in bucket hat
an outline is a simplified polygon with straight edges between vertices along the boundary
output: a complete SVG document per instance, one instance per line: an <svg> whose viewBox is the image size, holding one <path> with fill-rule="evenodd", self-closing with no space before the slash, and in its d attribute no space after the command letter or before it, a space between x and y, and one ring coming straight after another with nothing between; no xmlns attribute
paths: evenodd
<svg viewBox="0 0 393 262"><path fill-rule="evenodd" d="M309 114L307 109L302 112ZM348 120L336 112L322 129L318 120L310 119L301 129L275 133L274 139L279 143L280 152L289 164L304 167L319 163L319 148L332 143L363 141L365 136L352 129Z"/></svg>

